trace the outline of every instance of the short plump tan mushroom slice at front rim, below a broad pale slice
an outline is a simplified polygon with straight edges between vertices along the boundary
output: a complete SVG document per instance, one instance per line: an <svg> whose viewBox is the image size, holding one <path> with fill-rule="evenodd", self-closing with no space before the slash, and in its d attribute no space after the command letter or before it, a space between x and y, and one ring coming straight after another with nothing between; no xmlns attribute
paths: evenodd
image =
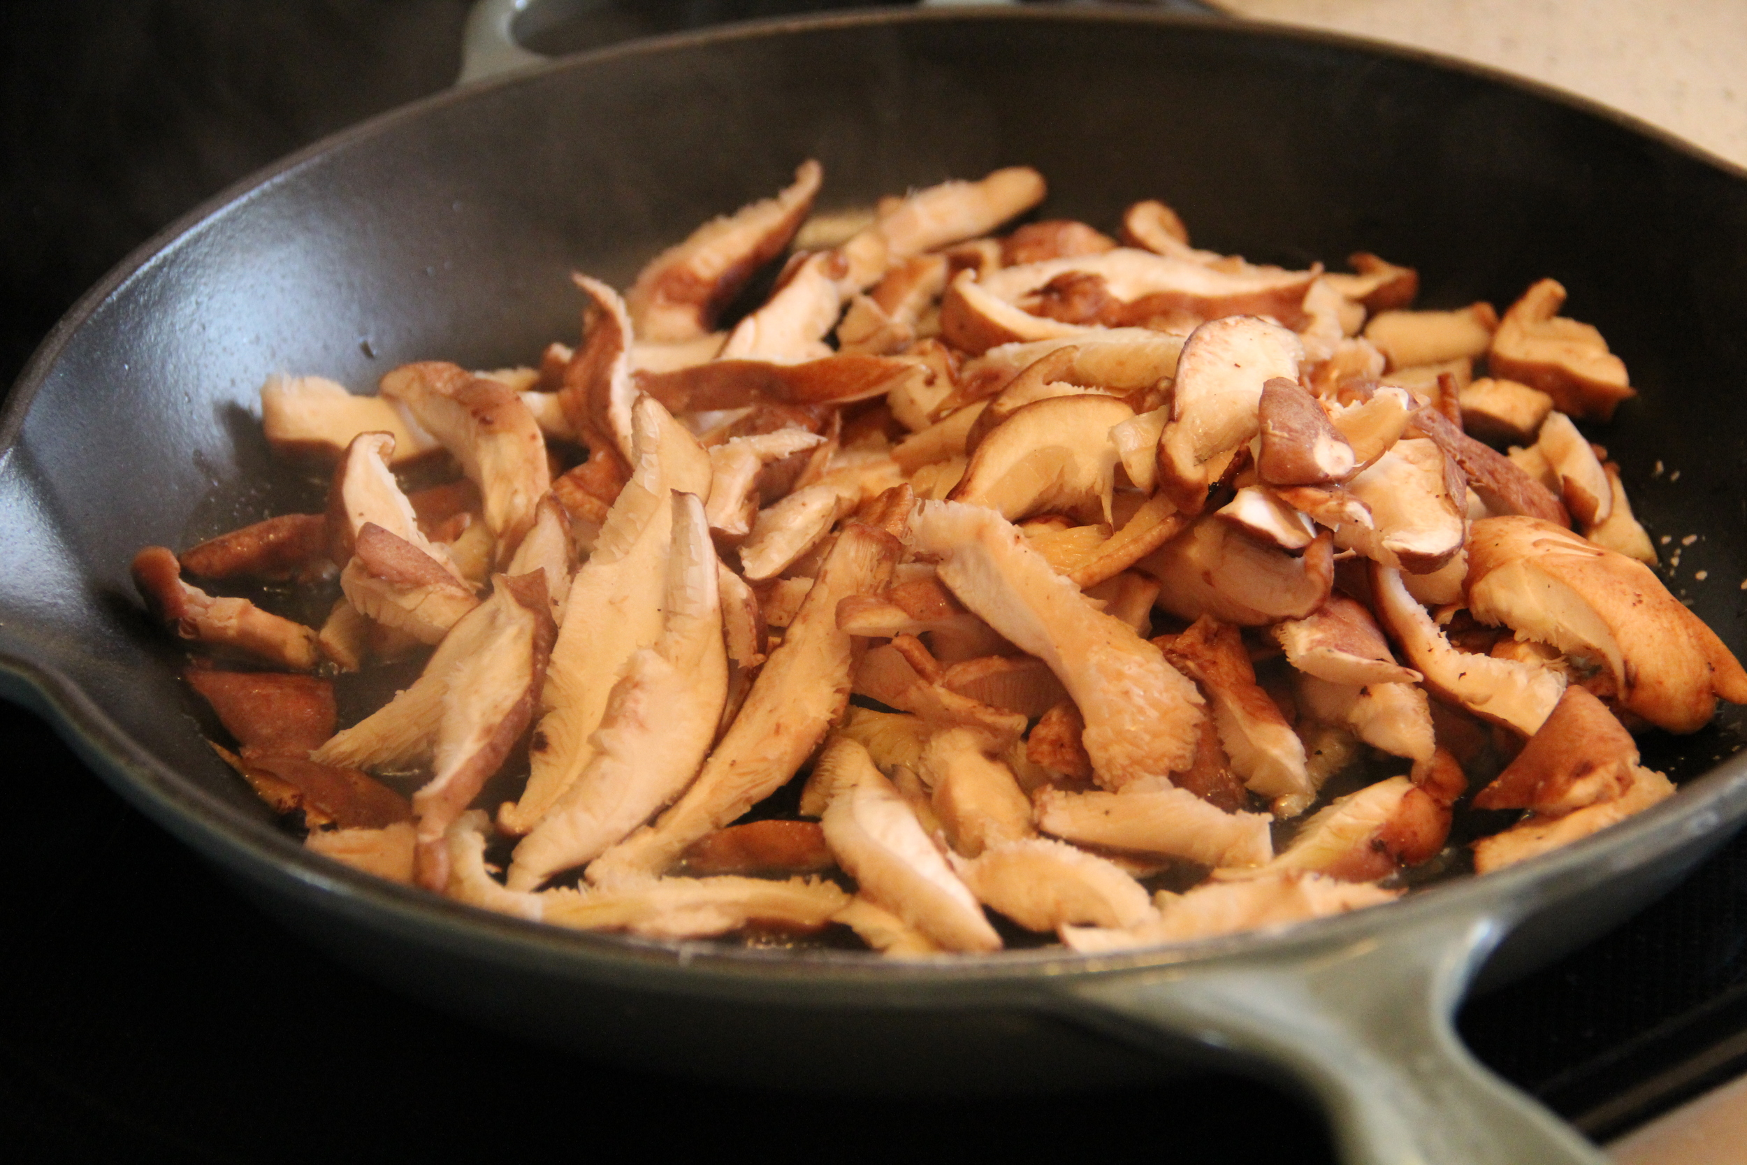
<svg viewBox="0 0 1747 1165"><path fill-rule="evenodd" d="M952 866L985 906L1027 931L1139 926L1158 913L1122 866L1050 838L1005 842Z"/></svg>

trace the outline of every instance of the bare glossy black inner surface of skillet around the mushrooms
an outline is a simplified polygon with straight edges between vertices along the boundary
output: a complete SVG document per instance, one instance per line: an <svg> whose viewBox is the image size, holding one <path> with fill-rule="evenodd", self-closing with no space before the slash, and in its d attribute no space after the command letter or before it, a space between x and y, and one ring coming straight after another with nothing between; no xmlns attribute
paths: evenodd
<svg viewBox="0 0 1747 1165"><path fill-rule="evenodd" d="M1560 278L1644 393L1597 438L1653 534L1670 550L1698 534L1670 582L1742 645L1737 175L1410 58L1027 12L629 47L438 98L278 169L100 288L21 383L0 468L0 651L84 695L61 707L110 776L145 781L150 758L203 828L267 835L189 716L166 714L192 711L182 653L126 582L143 543L189 545L304 496L248 416L260 379L365 389L402 360L528 362L575 335L571 267L622 285L807 155L826 166L826 208L1029 162L1052 182L1046 215L1111 229L1127 203L1164 197L1204 246L1412 264L1426 306L1502 307ZM1646 758L1684 779L1738 742L1726 716Z"/></svg>

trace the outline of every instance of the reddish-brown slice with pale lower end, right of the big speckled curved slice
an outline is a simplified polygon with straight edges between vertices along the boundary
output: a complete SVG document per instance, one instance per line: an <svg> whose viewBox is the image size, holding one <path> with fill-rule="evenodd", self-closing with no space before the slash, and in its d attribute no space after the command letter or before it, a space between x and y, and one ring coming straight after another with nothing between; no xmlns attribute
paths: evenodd
<svg viewBox="0 0 1747 1165"><path fill-rule="evenodd" d="M1286 723L1279 704L1256 683L1256 669L1237 627L1202 615L1169 641L1165 658L1207 693L1219 744L1244 784L1267 796L1279 817L1295 817L1309 809L1315 786L1305 770L1303 741Z"/></svg>

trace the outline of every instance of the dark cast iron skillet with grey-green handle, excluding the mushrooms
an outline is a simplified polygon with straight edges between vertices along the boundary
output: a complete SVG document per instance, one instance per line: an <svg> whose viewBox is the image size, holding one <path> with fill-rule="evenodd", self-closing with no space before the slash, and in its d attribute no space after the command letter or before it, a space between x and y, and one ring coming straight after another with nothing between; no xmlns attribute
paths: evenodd
<svg viewBox="0 0 1747 1165"><path fill-rule="evenodd" d="M145 543L306 501L250 416L273 370L524 362L802 157L825 206L1029 162L1046 215L1164 197L1204 246L1419 267L1422 302L1553 274L1642 388L1599 435L1674 589L1740 653L1747 180L1642 128L1354 42L1109 12L865 14L631 45L438 96L185 220L54 330L0 423L0 678L285 924L477 1020L652 1067L868 1092L1102 1086L1204 1057L1284 1074L1349 1162L1597 1162L1450 1015L1618 922L1747 814L1742 718L1647 737L1679 796L1539 861L1279 934L1115 957L891 966L573 934L304 852L199 739ZM1677 541L1675 541L1677 545ZM1695 569L1709 578L1696 582Z"/></svg>

